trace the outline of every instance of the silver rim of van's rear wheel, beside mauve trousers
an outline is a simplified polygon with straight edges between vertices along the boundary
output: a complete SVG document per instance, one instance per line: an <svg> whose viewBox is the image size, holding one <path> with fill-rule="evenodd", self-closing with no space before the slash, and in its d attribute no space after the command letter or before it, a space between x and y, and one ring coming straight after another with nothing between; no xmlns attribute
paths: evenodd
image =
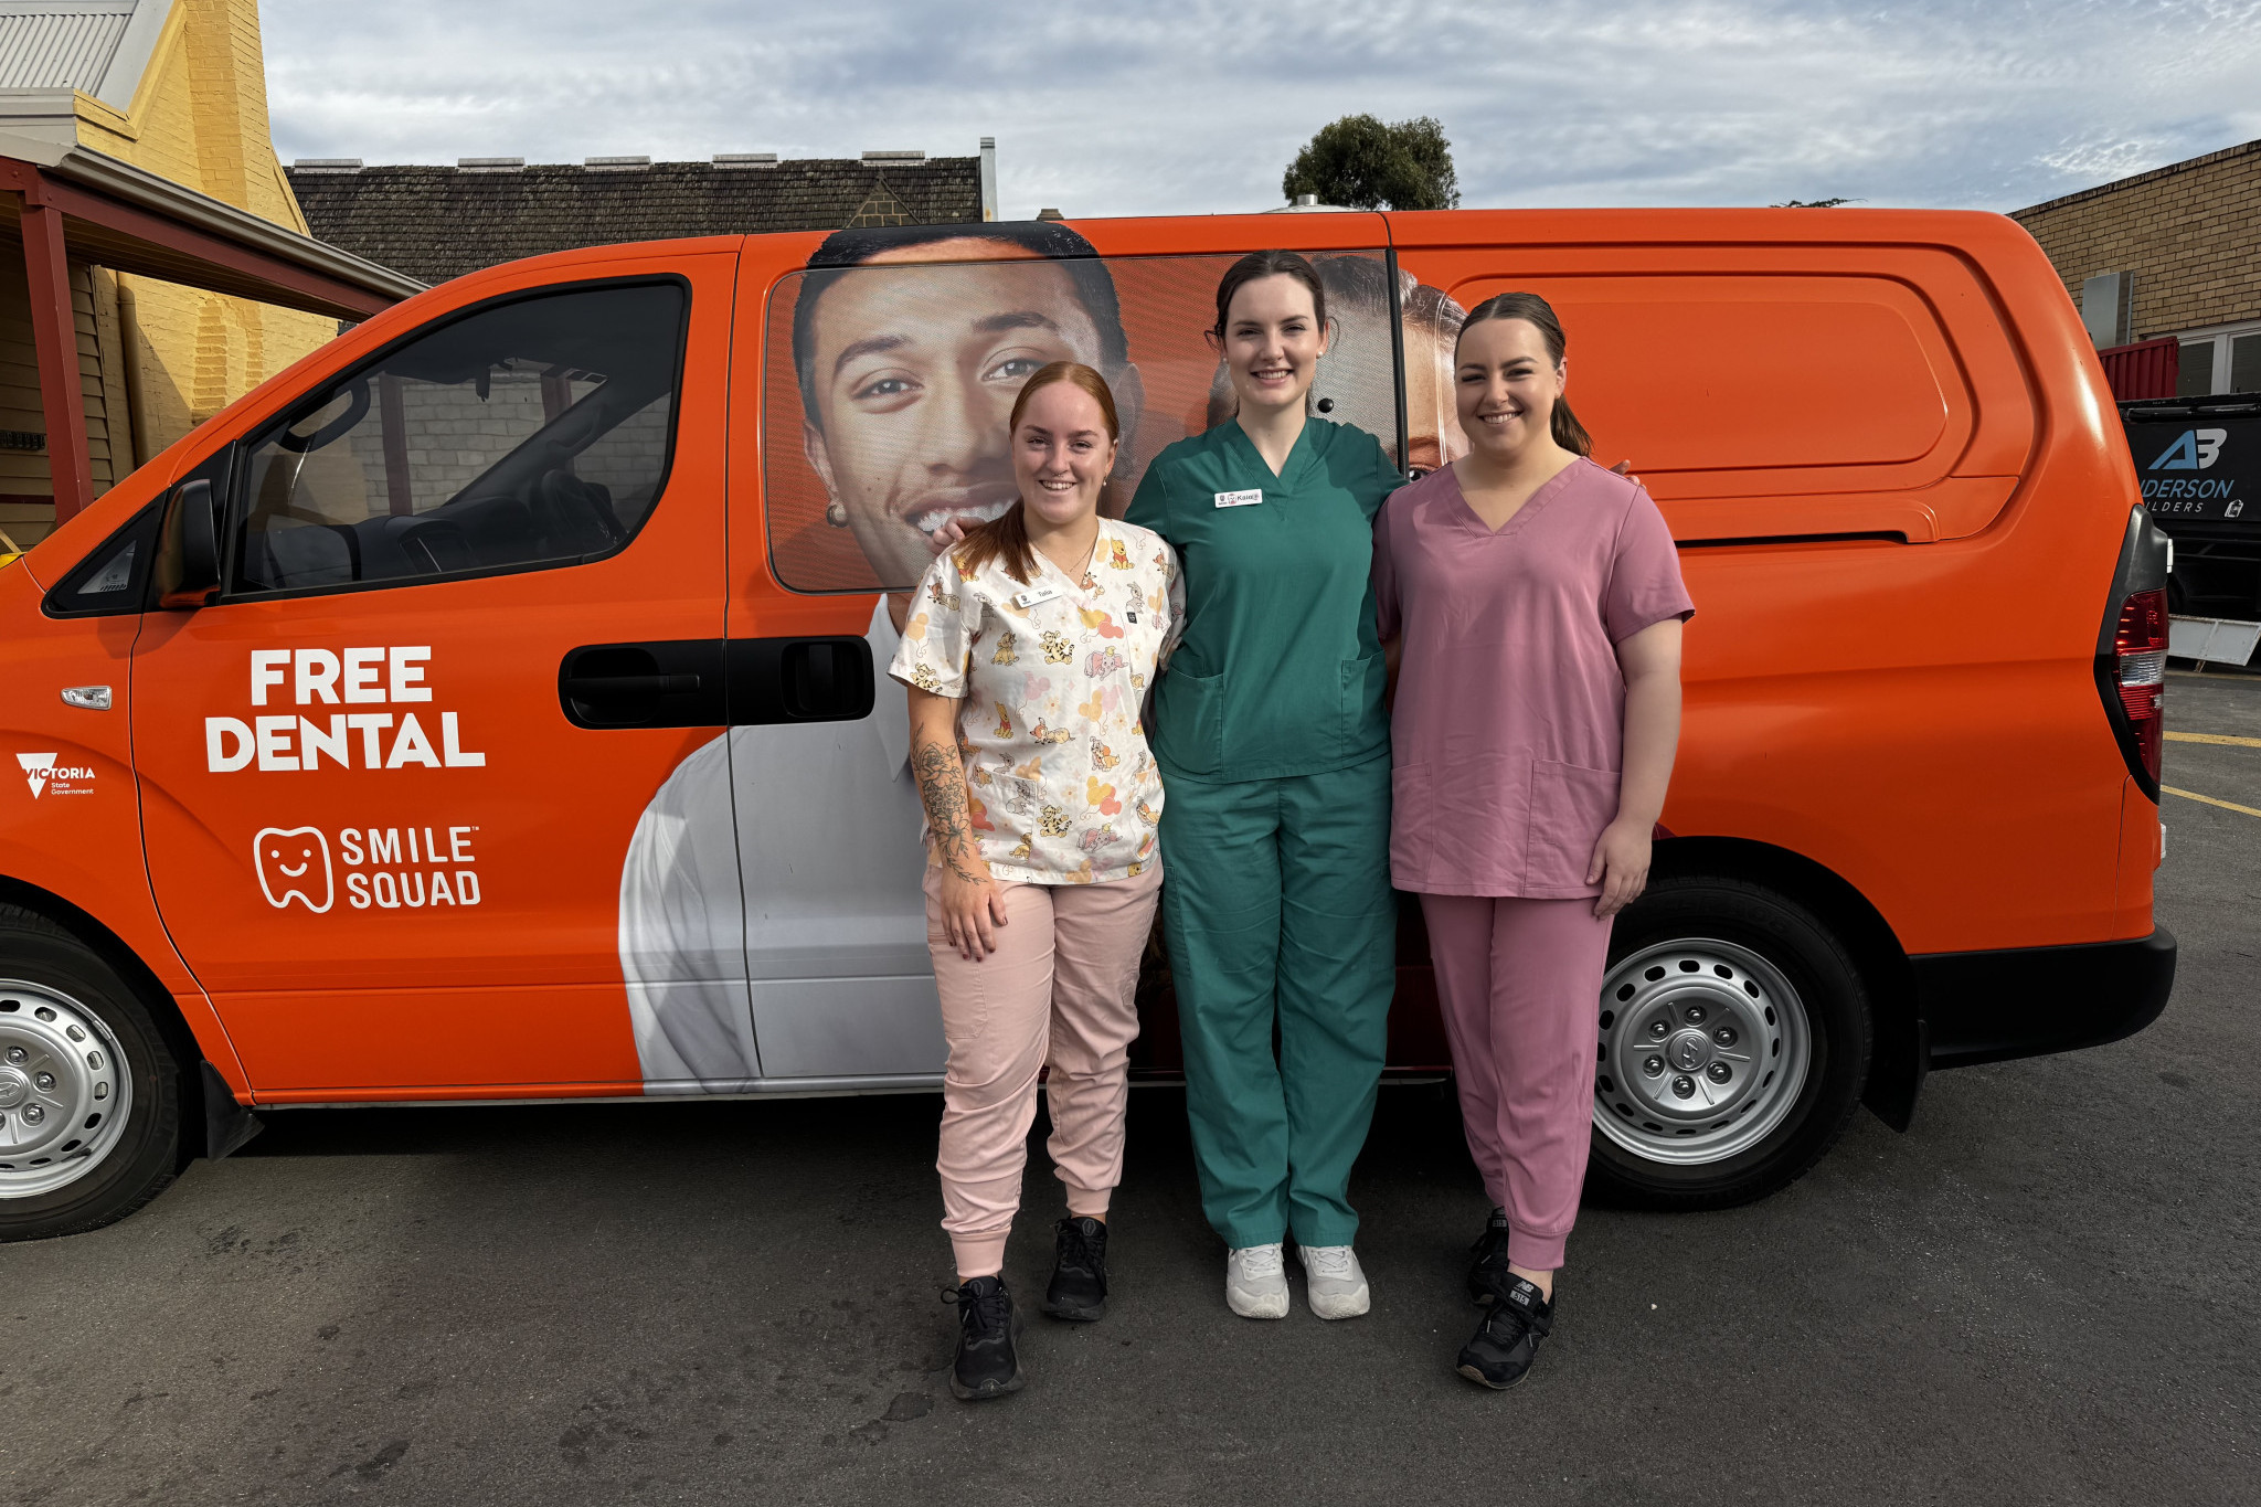
<svg viewBox="0 0 2261 1507"><path fill-rule="evenodd" d="M1644 947L1601 983L1594 1123L1648 1161L1725 1161L1782 1123L1811 1057L1804 1001L1759 953Z"/></svg>

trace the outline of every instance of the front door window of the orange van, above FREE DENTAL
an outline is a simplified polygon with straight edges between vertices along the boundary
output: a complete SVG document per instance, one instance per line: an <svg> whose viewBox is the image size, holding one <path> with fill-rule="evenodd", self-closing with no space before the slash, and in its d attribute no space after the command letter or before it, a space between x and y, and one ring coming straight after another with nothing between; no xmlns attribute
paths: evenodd
<svg viewBox="0 0 2261 1507"><path fill-rule="evenodd" d="M246 445L231 594L577 565L667 481L687 294L581 287L475 310Z"/></svg>

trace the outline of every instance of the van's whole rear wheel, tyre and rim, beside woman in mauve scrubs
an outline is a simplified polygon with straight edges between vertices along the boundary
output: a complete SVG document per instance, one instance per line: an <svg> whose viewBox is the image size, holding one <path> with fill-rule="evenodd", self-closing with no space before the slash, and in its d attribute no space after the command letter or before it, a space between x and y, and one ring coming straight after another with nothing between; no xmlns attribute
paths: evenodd
<svg viewBox="0 0 2261 1507"><path fill-rule="evenodd" d="M1845 1132L1868 1055L1861 976L1811 911L1741 879L1660 879L1610 940L1587 1191L1637 1209L1766 1197Z"/></svg>

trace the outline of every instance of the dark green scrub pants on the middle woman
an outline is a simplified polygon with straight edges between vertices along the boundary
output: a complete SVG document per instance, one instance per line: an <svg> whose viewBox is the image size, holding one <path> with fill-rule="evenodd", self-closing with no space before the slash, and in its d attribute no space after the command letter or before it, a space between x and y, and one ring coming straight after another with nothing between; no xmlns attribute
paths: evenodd
<svg viewBox="0 0 2261 1507"><path fill-rule="evenodd" d="M1350 1245L1397 985L1391 759L1171 779L1162 926L1201 1209L1232 1247ZM1273 1028L1277 1026L1277 1057Z"/></svg>

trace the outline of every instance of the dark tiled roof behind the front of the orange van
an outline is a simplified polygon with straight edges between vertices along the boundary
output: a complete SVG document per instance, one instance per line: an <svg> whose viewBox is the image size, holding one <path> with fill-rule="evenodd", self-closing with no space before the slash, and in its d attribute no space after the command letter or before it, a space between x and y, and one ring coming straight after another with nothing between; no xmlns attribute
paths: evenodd
<svg viewBox="0 0 2261 1507"><path fill-rule="evenodd" d="M545 251L683 235L981 219L981 158L649 167L294 167L317 239L425 282Z"/></svg>

